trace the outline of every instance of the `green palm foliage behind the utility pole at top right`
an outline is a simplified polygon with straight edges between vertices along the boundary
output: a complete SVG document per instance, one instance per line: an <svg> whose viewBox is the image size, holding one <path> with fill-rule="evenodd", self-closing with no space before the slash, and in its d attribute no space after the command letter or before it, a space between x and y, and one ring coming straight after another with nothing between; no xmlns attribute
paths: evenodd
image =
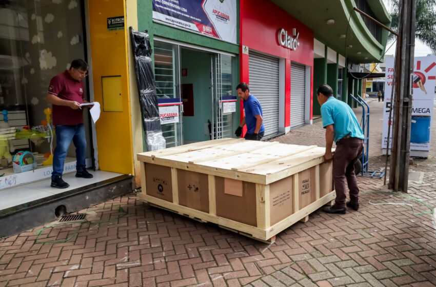
<svg viewBox="0 0 436 287"><path fill-rule="evenodd" d="M399 25L399 1L390 0L392 12L391 29L398 31ZM436 0L417 0L417 19L415 36L426 44L436 54ZM390 34L389 39L395 36Z"/></svg>

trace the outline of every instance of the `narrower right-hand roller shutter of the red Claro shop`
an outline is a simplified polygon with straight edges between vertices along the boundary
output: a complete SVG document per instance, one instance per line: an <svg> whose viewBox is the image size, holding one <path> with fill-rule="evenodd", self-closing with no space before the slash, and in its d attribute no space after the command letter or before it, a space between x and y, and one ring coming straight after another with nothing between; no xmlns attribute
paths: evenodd
<svg viewBox="0 0 436 287"><path fill-rule="evenodd" d="M291 125L304 125L306 95L306 67L291 62Z"/></svg>

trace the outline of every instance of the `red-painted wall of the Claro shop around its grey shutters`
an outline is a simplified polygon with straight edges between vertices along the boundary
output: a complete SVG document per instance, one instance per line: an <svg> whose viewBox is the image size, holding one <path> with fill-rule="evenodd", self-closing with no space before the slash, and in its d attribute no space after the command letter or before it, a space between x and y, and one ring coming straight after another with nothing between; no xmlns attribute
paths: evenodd
<svg viewBox="0 0 436 287"><path fill-rule="evenodd" d="M254 85L255 80L256 85L262 84L262 80L253 78L255 67L260 67L253 65L255 63L254 55L265 55L272 61L276 58L276 63L279 63L279 103L278 105L273 103L271 111L274 112L276 107L279 108L279 133L288 132L291 124L291 106L293 104L291 101L291 63L292 65L297 63L304 65L306 69L305 123L310 122L312 119L313 31L271 2L241 0L240 3L241 81L248 83L250 92L259 99L259 95L252 91L250 83L251 80ZM250 54L253 55L251 59ZM300 67L303 67L302 65ZM257 90L261 91L262 89ZM264 95L263 98L268 96ZM274 98L272 101L275 101L276 95L271 95L271 98ZM261 99L260 101L264 109L264 104ZM264 101L264 103L267 102L268 99ZM265 114L265 109L263 113L264 118L268 117L268 114ZM242 115L243 105L241 103L241 117ZM271 129L274 129L274 127L271 127Z"/></svg>

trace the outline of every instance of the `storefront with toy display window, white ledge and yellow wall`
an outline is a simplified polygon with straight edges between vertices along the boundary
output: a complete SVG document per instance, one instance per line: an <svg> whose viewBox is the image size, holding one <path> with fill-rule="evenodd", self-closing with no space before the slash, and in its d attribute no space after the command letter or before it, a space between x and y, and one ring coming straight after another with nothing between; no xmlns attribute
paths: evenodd
<svg viewBox="0 0 436 287"><path fill-rule="evenodd" d="M56 207L62 204L71 212L73 205L83 208L125 193L126 187L131 191L132 122L125 17L125 2L117 0L6 1L0 6L0 109L4 115L0 120L0 220L9 220L8 227L19 230L32 226L32 217L46 218L39 218L39 222L54 218ZM112 18L120 19L116 29L109 25ZM95 124L88 110L83 113L86 165L94 177L74 177L76 158L71 144L63 173L70 187L60 190L50 187L56 134L46 98L50 79L68 70L73 59L88 62L84 98L98 101L101 113ZM88 193L115 183L118 190L105 191L98 199ZM85 193L86 199L76 197ZM32 213L49 203L50 210ZM28 216L15 222L13 216L21 211Z"/></svg>

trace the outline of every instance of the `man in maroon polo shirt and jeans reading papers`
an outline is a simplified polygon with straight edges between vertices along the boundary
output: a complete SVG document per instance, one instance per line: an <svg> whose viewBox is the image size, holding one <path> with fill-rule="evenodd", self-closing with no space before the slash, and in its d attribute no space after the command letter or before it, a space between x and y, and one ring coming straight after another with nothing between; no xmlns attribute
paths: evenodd
<svg viewBox="0 0 436 287"><path fill-rule="evenodd" d="M62 173L71 140L76 148L76 177L92 177L92 174L86 171L87 144L81 107L82 103L88 103L84 99L82 82L82 79L88 75L87 71L88 64L84 60L73 60L70 69L54 76L48 88L47 101L53 105L53 126L56 131L56 148L53 153L51 174L51 186L54 188L70 186L62 179Z"/></svg>

